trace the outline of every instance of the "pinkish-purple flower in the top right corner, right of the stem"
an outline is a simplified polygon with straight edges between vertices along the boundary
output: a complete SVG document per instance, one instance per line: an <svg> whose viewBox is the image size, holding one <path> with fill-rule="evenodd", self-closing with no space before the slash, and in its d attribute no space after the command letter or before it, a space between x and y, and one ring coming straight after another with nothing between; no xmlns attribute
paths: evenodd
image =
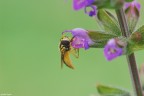
<svg viewBox="0 0 144 96"><path fill-rule="evenodd" d="M126 15L131 15L132 16L139 16L139 11L140 11L141 5L138 3L136 0L133 2L125 3L124 9L126 12Z"/></svg>

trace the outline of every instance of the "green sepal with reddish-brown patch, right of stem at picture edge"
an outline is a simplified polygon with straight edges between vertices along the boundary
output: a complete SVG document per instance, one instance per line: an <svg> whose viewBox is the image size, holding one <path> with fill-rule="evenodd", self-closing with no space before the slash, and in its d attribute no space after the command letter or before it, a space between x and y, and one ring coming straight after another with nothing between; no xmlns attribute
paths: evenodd
<svg viewBox="0 0 144 96"><path fill-rule="evenodd" d="M144 49L144 25L131 34L127 45L128 54Z"/></svg>

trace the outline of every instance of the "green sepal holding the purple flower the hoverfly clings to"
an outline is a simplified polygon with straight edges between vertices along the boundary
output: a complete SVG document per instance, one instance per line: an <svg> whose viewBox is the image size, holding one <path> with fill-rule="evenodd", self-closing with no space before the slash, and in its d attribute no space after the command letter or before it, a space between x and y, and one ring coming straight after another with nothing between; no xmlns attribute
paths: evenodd
<svg viewBox="0 0 144 96"><path fill-rule="evenodd" d="M88 31L88 35L94 42L94 44L90 45L90 47L94 48L104 48L109 39L117 37L116 35L109 34L103 31Z"/></svg>

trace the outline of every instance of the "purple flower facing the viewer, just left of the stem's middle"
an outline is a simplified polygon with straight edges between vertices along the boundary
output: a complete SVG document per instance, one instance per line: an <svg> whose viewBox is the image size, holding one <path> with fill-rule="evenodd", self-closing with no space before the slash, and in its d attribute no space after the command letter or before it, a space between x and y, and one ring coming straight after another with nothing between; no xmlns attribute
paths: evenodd
<svg viewBox="0 0 144 96"><path fill-rule="evenodd" d="M108 61L121 56L123 49L118 46L115 39L111 39L104 47L104 55Z"/></svg>

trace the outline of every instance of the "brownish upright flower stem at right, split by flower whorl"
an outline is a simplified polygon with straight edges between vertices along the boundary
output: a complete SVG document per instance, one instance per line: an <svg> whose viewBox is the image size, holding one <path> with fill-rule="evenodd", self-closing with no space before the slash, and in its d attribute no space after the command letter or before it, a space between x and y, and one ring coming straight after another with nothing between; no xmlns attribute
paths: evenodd
<svg viewBox="0 0 144 96"><path fill-rule="evenodd" d="M129 37L131 33L129 32L128 24L127 24L123 9L116 10L116 14L117 14L117 18L118 18L123 36ZM131 78L133 81L135 94L136 96L142 96L142 87L141 87L141 83L139 79L139 73L138 73L138 68L136 65L135 55L134 53L132 53L131 55L127 55L126 57L127 57L128 65L129 65Z"/></svg>

